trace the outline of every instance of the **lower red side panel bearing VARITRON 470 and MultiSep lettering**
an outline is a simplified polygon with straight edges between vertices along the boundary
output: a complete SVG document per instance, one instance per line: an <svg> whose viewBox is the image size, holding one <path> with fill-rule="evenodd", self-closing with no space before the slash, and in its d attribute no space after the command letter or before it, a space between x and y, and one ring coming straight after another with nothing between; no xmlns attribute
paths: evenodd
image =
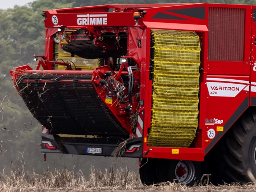
<svg viewBox="0 0 256 192"><path fill-rule="evenodd" d="M249 76L207 75L201 89L204 90L201 97L206 98L202 126L205 153L208 153L248 108Z"/></svg>

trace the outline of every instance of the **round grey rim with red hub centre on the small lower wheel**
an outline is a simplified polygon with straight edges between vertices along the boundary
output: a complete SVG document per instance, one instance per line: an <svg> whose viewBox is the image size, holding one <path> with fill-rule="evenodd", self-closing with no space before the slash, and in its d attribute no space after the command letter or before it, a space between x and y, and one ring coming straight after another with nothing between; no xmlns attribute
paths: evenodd
<svg viewBox="0 0 256 192"><path fill-rule="evenodd" d="M180 161L175 169L176 179L182 183L189 183L195 176L195 167L191 161Z"/></svg>

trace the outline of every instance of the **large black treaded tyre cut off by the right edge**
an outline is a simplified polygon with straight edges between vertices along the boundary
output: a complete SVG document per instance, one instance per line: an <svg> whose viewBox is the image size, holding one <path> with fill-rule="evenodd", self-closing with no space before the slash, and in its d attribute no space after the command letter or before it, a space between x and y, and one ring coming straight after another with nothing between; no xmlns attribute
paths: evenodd
<svg viewBox="0 0 256 192"><path fill-rule="evenodd" d="M251 181L248 170L256 177L256 113L248 110L231 127L225 137L223 150L225 182Z"/></svg>

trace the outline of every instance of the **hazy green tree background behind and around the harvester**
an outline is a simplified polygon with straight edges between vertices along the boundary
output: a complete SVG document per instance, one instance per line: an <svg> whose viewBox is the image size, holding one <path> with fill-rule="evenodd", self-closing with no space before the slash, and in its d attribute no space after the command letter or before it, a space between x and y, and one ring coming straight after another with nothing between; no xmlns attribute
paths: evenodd
<svg viewBox="0 0 256 192"><path fill-rule="evenodd" d="M26 169L40 171L76 165L85 170L93 164L109 168L113 158L79 155L48 155L43 161L38 144L41 142L41 125L32 117L13 87L10 70L20 65L36 65L33 54L44 54L45 27L42 10L82 7L100 4L136 3L236 3L256 4L256 0L35 0L25 6L0 11L0 171L15 169L26 163ZM24 153L23 153L24 152ZM61 158L61 159L60 159ZM128 162L127 162L128 161ZM136 159L122 160L125 166L137 169ZM117 166L122 165L118 164Z"/></svg>

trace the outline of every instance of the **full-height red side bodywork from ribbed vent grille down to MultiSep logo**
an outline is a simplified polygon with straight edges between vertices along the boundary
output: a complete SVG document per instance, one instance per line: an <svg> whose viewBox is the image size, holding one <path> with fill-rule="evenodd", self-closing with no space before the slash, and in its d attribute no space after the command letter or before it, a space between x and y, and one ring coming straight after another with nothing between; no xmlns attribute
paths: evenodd
<svg viewBox="0 0 256 192"><path fill-rule="evenodd" d="M208 61L201 84L205 154L249 106L251 6L209 6ZM204 121L204 122L203 122Z"/></svg>

